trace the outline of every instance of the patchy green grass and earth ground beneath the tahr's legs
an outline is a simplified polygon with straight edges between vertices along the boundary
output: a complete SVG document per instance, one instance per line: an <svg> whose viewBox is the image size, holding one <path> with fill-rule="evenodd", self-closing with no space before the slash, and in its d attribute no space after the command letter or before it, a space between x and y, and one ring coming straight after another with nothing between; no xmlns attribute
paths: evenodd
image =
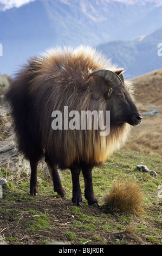
<svg viewBox="0 0 162 256"><path fill-rule="evenodd" d="M147 165L158 175L139 172L138 164ZM1 171L5 177L6 173L5 169ZM34 244L51 240L82 245L161 243L161 200L157 197L162 176L161 156L120 150L101 168L95 167L93 185L99 209L87 205L82 174L83 203L81 207L72 206L70 171L62 171L61 176L67 195L64 200L57 197L51 179L41 170L38 170L41 179L37 197L29 196L29 176L24 174L10 181L10 188L3 188L0 232L4 229L1 234L8 243ZM108 208L105 208L106 197ZM138 209L134 205L138 205ZM139 209L141 215L137 215Z"/></svg>

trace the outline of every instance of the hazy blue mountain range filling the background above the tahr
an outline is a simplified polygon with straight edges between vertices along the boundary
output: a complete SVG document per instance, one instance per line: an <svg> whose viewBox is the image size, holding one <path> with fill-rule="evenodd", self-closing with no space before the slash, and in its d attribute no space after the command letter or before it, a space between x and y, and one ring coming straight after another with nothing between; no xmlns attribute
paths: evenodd
<svg viewBox="0 0 162 256"><path fill-rule="evenodd" d="M146 44L147 36L153 36L152 33L162 24L161 0L35 0L19 8L3 10L1 3L0 43L3 56L0 57L0 72L11 76L30 56L57 45L97 47L113 57L116 64L129 69L126 62L127 59L131 61L133 48L131 56L125 56L123 65L124 58L119 54L122 50L118 51L120 44L128 44L128 48L135 45L132 47L139 51L140 46L137 45ZM145 36L143 40L134 39L141 35ZM106 52L107 42L118 47L109 45L109 52ZM112 55L112 51L118 58ZM137 56L136 52L133 54ZM134 63L133 60L131 65ZM159 66L152 68L158 69ZM129 75L134 76L132 71Z"/></svg>

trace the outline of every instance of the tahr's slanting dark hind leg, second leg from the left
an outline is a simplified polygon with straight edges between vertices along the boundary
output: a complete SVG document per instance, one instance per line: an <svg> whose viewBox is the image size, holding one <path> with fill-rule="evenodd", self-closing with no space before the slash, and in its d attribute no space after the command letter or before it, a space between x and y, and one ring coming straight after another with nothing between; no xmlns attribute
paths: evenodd
<svg viewBox="0 0 162 256"><path fill-rule="evenodd" d="M64 191L61 184L61 179L60 179L60 174L57 168L57 164L54 163L53 161L50 161L49 157L47 156L45 161L47 163L47 166L51 175L51 179L53 180L54 191L57 192L57 194L59 194L61 197L66 198L66 192Z"/></svg>

